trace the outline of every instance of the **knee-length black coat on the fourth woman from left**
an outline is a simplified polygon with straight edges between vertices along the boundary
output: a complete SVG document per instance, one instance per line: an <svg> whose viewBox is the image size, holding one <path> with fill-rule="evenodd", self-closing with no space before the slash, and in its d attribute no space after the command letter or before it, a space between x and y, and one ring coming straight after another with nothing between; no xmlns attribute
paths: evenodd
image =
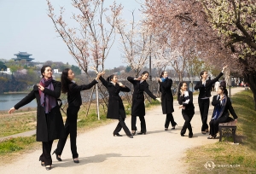
<svg viewBox="0 0 256 174"><path fill-rule="evenodd" d="M144 105L144 91L153 98L156 99L150 90L148 90L148 83L144 80L140 84L140 80L134 80L134 78L128 77L127 80L133 84L133 94L132 94L132 106L131 115L133 116L144 116L145 115L145 105Z"/></svg>

